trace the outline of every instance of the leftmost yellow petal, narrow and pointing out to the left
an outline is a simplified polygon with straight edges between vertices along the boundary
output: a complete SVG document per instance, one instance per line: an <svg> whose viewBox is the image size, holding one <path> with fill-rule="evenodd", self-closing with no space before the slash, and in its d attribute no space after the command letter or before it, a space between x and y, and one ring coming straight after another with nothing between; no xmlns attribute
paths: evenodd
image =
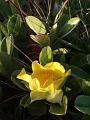
<svg viewBox="0 0 90 120"><path fill-rule="evenodd" d="M25 69L23 68L21 72L17 75L17 78L29 83L31 80L31 75L27 74Z"/></svg>

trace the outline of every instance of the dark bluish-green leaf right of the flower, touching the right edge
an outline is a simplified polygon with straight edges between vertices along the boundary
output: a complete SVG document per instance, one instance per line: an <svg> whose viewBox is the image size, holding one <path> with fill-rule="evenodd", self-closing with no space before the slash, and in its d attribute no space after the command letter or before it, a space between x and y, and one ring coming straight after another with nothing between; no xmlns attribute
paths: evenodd
<svg viewBox="0 0 90 120"><path fill-rule="evenodd" d="M82 69L71 65L71 74L72 76L82 79L82 80L88 80L90 81L90 75L88 73L86 73L85 71L83 71Z"/></svg>

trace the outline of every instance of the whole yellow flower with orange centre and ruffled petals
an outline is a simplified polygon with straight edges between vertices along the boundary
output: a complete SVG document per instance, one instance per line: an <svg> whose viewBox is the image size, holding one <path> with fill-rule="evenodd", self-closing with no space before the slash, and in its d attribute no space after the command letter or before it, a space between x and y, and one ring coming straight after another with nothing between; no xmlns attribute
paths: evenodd
<svg viewBox="0 0 90 120"><path fill-rule="evenodd" d="M61 103L63 86L65 79L70 75L70 70L65 72L65 68L58 62L50 62L45 66L37 61L32 63L31 75L22 69L17 76L18 79L25 81L25 85L31 90L31 102L46 99L51 103ZM28 85L26 84L28 83Z"/></svg>

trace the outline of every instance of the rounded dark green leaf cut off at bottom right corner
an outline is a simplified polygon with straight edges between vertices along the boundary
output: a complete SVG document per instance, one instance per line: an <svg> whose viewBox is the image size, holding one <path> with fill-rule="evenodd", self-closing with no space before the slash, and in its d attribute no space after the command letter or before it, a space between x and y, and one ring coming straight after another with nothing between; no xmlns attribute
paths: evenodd
<svg viewBox="0 0 90 120"><path fill-rule="evenodd" d="M90 115L90 96L78 96L75 100L75 108L84 114Z"/></svg>

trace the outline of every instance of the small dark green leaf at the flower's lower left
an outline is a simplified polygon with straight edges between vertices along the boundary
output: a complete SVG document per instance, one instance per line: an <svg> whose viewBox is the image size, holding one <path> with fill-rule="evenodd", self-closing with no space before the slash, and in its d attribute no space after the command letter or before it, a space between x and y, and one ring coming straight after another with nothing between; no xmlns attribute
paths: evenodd
<svg viewBox="0 0 90 120"><path fill-rule="evenodd" d="M28 107L30 103L31 103L30 94L26 94L20 100L20 105L22 105L24 108Z"/></svg>

